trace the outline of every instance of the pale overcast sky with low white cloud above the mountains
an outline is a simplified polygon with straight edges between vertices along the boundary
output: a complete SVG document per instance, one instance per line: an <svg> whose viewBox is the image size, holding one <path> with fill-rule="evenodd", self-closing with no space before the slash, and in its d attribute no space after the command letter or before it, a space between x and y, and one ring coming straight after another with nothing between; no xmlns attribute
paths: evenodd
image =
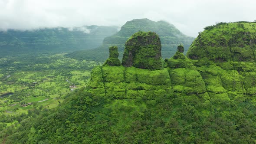
<svg viewBox="0 0 256 144"><path fill-rule="evenodd" d="M0 0L0 29L122 26L165 20L196 37L216 22L256 20L256 0Z"/></svg>

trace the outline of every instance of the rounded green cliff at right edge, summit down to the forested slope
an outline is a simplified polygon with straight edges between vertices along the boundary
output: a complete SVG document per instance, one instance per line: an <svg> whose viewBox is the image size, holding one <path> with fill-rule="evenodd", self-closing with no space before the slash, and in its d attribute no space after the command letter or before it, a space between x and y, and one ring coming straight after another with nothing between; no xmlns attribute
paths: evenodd
<svg viewBox="0 0 256 144"><path fill-rule="evenodd" d="M244 101L256 94L256 23L207 26L187 56L197 66L210 97Z"/></svg>

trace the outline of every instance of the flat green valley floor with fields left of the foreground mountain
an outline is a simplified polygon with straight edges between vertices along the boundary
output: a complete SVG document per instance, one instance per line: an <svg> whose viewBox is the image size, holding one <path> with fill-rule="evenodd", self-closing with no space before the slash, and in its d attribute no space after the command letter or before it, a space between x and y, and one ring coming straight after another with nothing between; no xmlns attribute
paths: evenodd
<svg viewBox="0 0 256 144"><path fill-rule="evenodd" d="M36 108L54 108L83 87L99 63L63 54L6 56L0 59L0 130Z"/></svg>

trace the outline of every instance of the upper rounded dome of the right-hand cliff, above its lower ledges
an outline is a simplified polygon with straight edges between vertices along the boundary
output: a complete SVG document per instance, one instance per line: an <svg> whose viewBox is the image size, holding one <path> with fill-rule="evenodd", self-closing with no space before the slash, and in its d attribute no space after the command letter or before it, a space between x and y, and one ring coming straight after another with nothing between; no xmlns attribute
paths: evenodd
<svg viewBox="0 0 256 144"><path fill-rule="evenodd" d="M190 59L255 62L256 23L219 23L206 27L187 52Z"/></svg>

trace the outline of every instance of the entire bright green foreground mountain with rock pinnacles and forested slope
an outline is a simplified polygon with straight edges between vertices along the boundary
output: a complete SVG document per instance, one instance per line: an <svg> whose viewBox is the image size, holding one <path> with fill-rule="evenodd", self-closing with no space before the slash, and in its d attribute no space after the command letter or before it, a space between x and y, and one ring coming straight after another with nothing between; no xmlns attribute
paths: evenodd
<svg viewBox="0 0 256 144"><path fill-rule="evenodd" d="M111 47L110 57L92 70L86 88L67 95L59 108L30 111L29 118L1 131L0 138L6 144L253 144L256 65L243 52L247 46L252 53L256 49L255 26L206 27L188 57L179 45L161 64L159 36L135 33L125 44L122 65L116 47ZM225 29L232 32L224 33ZM243 34L234 34L240 31ZM227 41L234 38L233 43L222 44L220 36ZM241 56L232 55L232 49ZM233 59L224 59L230 53Z"/></svg>

